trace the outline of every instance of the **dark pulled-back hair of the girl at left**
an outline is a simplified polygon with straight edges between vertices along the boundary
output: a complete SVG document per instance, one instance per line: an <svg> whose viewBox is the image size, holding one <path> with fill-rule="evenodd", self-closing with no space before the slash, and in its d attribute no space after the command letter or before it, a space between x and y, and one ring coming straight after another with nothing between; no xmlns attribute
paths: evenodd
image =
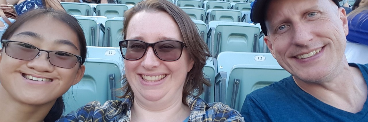
<svg viewBox="0 0 368 122"><path fill-rule="evenodd" d="M75 34L77 34L78 36L79 48L80 48L82 64L83 64L85 62L86 55L87 55L86 39L84 37L83 30L81 26L79 25L77 19L67 14L67 12L65 11L57 11L57 10L52 10L52 9L36 9L36 10L29 11L21 15L17 19L17 21L15 21L11 26L8 27L8 29L3 34L3 37L1 37L1 40L9 39L11 36L13 36L14 32L24 23L27 23L28 21L31 21L33 19L38 19L41 16L47 16L47 17L52 17L54 19L57 19L65 23L66 25L68 25L72 30L74 30ZM59 98L57 98L54 106L51 108L51 110L46 115L45 119L43 119L43 121L45 122L56 121L63 114L64 108L65 107L64 107L63 97L60 96Z"/></svg>

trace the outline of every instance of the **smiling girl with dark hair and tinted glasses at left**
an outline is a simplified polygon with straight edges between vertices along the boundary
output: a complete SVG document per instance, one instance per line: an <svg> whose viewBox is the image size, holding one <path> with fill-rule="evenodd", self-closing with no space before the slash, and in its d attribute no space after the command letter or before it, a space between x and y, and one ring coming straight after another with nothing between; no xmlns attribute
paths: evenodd
<svg viewBox="0 0 368 122"><path fill-rule="evenodd" d="M62 95L83 77L86 41L78 21L65 11L33 10L1 38L2 122L54 122Z"/></svg>

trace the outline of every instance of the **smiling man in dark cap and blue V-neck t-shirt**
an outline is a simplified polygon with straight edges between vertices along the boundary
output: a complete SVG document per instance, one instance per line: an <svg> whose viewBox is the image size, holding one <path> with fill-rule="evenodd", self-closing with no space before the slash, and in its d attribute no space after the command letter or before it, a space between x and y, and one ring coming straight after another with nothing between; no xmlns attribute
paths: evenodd
<svg viewBox="0 0 368 122"><path fill-rule="evenodd" d="M292 76L247 95L245 121L368 122L368 64L347 63L338 0L256 0L251 19Z"/></svg>

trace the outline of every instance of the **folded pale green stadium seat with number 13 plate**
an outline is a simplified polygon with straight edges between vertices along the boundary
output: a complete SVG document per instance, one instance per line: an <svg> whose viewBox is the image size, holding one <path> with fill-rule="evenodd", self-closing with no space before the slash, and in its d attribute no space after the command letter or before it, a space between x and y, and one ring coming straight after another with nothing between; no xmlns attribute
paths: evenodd
<svg viewBox="0 0 368 122"><path fill-rule="evenodd" d="M216 64L215 64L216 63ZM231 97L231 95L229 95L229 92L226 91L230 91L232 90L231 86L233 86L233 82L234 82L234 78L230 77L231 75L231 70L233 69L233 67L239 65L239 64L246 64L246 65L265 65L265 67L275 67L277 66L277 69L282 70L282 74L280 77L285 78L287 76L290 76L290 74L287 74L287 71L284 71L279 64L277 63L276 59L273 58L273 56L270 53L253 53L253 52L221 52L218 56L217 59L214 60L214 66L216 66L216 70L217 70L217 74L215 76L215 101L220 101L220 102L224 102L226 103L227 101L227 97ZM265 69L263 67L263 69ZM256 74L254 74L256 73ZM259 72L254 71L253 74L248 75L245 73L238 73L244 76L257 76L257 77L264 77L264 74L267 74L269 76L275 77L276 80L274 81L279 81L280 79L279 76L274 76L273 74L270 73L261 73L259 74ZM286 74L285 74L286 73ZM279 75L279 74L275 74L275 75ZM233 75L231 75L233 76ZM239 78L238 78L239 79ZM244 80L244 79L242 79ZM269 80L265 80L266 82L264 84L269 84L271 82L269 82ZM246 81L244 81L246 82ZM273 82L273 81L272 81ZM264 86L263 84L263 86ZM252 85L253 86L253 85ZM257 85L259 87L261 87L260 85ZM231 87L231 88L230 88ZM230 89L229 89L230 88ZM242 88L243 89L243 86ZM245 95L244 95L245 97ZM239 97L238 97L239 98ZM240 100L244 101L244 98L242 97ZM243 104L243 103L241 103ZM230 104L228 104L230 106ZM236 108L235 108L236 109ZM238 109L236 109L238 110Z"/></svg>

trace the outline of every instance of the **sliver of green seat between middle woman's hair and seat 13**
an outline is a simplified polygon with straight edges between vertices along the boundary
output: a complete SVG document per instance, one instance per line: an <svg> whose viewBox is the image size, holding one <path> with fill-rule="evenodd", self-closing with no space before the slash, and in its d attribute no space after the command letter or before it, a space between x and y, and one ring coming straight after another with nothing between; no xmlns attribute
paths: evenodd
<svg viewBox="0 0 368 122"><path fill-rule="evenodd" d="M213 66L212 58L207 59L206 65L203 67L203 73L205 78L210 82L211 86L205 86L204 93L200 96L203 100L207 101L208 103L212 103L214 92L210 92L214 90L213 84L215 83L215 66Z"/></svg>

